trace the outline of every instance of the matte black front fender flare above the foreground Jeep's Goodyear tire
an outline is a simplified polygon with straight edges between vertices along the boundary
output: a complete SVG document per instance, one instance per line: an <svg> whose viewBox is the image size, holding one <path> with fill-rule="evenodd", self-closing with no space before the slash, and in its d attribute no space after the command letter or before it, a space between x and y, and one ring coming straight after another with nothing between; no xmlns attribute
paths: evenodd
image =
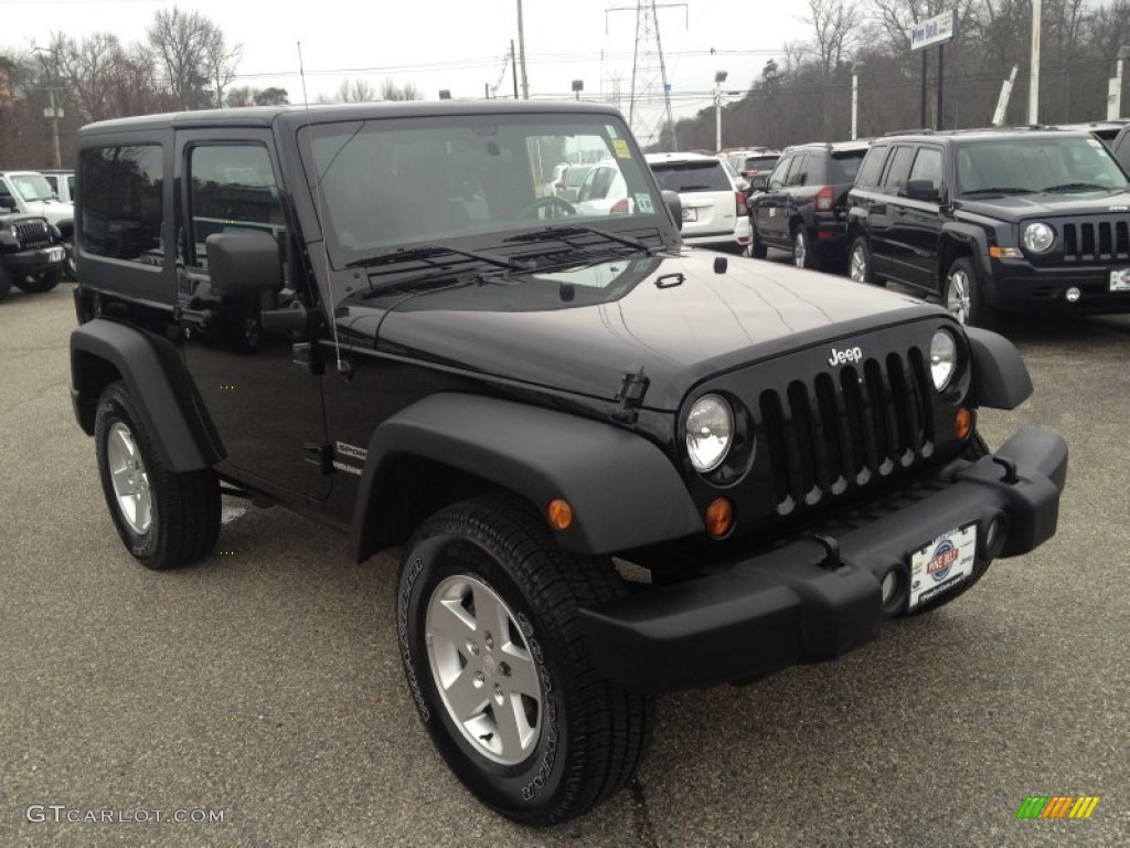
<svg viewBox="0 0 1130 848"><path fill-rule="evenodd" d="M702 517L671 460L628 430L554 409L441 392L381 424L368 443L354 508L357 562L381 546L375 517L395 496L390 467L419 457L475 475L527 500L539 514L555 497L574 520L554 529L582 554L610 554L701 531Z"/></svg>

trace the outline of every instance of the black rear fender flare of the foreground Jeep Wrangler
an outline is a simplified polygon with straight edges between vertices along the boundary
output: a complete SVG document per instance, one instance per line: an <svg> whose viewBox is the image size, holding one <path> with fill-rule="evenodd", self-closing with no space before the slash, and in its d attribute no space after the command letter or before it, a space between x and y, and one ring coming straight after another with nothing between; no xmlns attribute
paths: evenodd
<svg viewBox="0 0 1130 848"><path fill-rule="evenodd" d="M223 458L209 422L198 412L195 389L167 339L103 318L70 338L71 403L79 426L94 435L98 398L111 382L108 365L129 389L160 461L176 471L210 468Z"/></svg>

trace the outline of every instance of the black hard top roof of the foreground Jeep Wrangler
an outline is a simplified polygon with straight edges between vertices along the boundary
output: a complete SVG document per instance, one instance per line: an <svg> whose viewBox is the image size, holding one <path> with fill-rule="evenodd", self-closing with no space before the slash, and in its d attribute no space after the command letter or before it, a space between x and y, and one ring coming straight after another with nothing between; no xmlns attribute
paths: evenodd
<svg viewBox="0 0 1130 848"><path fill-rule="evenodd" d="M80 136L102 132L125 132L176 127L270 127L276 121L287 126L360 121L373 118L428 118L436 115L492 115L492 114L560 114L597 113L620 115L614 106L602 103L575 101L401 101L376 103L312 104L293 106L241 106L237 109L208 109L197 112L166 112L136 118L89 123L79 130Z"/></svg>

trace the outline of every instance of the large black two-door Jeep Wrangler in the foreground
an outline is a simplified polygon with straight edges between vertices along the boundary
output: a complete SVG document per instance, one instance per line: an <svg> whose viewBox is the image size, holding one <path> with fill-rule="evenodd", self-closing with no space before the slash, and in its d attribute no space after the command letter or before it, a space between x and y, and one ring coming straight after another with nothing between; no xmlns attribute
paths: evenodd
<svg viewBox="0 0 1130 848"><path fill-rule="evenodd" d="M576 152L626 213L540 193ZM133 118L79 168L71 393L127 547L208 555L221 494L402 545L409 696L516 821L621 787L654 693L838 657L1055 531L1063 441L977 435L1031 391L1007 340L684 250L614 109Z"/></svg>

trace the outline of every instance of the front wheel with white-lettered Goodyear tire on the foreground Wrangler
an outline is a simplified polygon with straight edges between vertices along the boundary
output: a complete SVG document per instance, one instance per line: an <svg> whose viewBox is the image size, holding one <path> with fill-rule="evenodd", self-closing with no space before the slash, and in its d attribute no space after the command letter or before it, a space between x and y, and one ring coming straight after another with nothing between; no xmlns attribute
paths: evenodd
<svg viewBox="0 0 1130 848"><path fill-rule="evenodd" d="M625 592L609 562L562 551L506 496L441 510L409 542L397 594L408 689L447 765L502 815L565 822L635 772L651 699L597 674L576 618Z"/></svg>

